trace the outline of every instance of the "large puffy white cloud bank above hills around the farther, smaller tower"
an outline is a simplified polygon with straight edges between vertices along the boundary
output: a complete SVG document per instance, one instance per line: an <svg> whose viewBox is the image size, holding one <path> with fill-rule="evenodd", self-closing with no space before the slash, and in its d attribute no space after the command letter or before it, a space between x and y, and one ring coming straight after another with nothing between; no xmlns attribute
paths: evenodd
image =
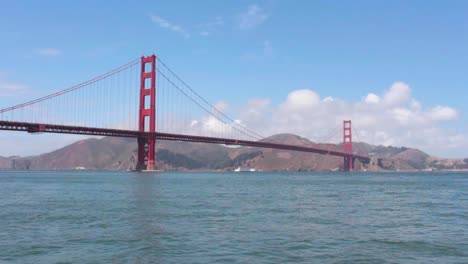
<svg viewBox="0 0 468 264"><path fill-rule="evenodd" d="M444 128L459 112L449 106L424 107L411 97L408 84L397 82L383 93L369 93L363 101L321 96L310 89L290 92L280 103L252 99L242 107L240 119L263 135L294 133L311 140L353 120L354 140L376 145L419 148L439 156L468 156L468 135ZM340 131L331 142L342 140ZM464 154L460 154L464 153Z"/></svg>

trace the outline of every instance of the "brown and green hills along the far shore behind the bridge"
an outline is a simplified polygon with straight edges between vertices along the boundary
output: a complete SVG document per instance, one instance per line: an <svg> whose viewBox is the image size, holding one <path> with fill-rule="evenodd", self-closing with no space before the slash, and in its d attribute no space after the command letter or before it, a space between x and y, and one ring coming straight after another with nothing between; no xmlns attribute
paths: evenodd
<svg viewBox="0 0 468 264"><path fill-rule="evenodd" d="M278 134L263 141L341 150L340 144L317 144L292 134ZM424 170L468 168L468 159L440 159L410 148L354 143L357 154L369 155L374 165L369 170ZM62 170L84 167L91 170L133 170L136 140L104 137L89 138L61 149L30 157L0 157L0 168ZM252 167L264 171L327 171L340 169L342 158L254 147L227 147L217 144L157 142L156 164L165 170L234 170ZM359 162L356 169L361 169Z"/></svg>

